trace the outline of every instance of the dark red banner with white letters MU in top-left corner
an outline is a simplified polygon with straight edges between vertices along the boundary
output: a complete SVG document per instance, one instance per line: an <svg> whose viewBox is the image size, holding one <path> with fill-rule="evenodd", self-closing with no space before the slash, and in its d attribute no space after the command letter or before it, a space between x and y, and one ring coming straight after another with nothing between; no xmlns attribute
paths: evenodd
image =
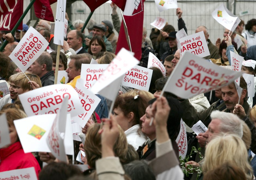
<svg viewBox="0 0 256 180"><path fill-rule="evenodd" d="M23 14L23 0L0 0L0 30L12 30ZM19 30L22 30L22 22Z"/></svg>

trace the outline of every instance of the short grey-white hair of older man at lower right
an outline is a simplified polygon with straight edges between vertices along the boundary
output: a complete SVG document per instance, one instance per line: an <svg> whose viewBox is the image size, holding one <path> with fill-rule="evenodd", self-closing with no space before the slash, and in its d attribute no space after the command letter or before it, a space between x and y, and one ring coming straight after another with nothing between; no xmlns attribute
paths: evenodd
<svg viewBox="0 0 256 180"><path fill-rule="evenodd" d="M240 118L237 115L234 115L229 112L213 111L211 113L211 119L219 119L221 121L220 132L232 133L242 138L242 120L240 120Z"/></svg>

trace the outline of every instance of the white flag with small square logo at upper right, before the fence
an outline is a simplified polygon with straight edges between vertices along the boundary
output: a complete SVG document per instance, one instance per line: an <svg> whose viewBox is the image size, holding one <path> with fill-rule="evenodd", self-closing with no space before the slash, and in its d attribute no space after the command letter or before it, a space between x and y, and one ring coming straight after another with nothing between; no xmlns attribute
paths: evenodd
<svg viewBox="0 0 256 180"><path fill-rule="evenodd" d="M240 23L240 19L234 14L230 13L228 9L222 4L212 12L212 17L222 26L231 30L232 32ZM239 21L239 22L238 22ZM235 28L233 28L235 26Z"/></svg>

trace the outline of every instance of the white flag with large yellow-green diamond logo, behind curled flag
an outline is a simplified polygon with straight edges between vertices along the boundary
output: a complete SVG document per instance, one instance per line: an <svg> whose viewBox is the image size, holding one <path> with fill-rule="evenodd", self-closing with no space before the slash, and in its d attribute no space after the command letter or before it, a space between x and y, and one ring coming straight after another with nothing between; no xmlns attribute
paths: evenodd
<svg viewBox="0 0 256 180"><path fill-rule="evenodd" d="M46 139L55 118L56 114L44 114L14 121L16 131L25 153L51 152L46 144ZM64 139L65 152L66 154L72 155L73 150L70 148L71 145L68 144L70 139L73 138L70 120L67 120L66 124L66 136Z"/></svg>

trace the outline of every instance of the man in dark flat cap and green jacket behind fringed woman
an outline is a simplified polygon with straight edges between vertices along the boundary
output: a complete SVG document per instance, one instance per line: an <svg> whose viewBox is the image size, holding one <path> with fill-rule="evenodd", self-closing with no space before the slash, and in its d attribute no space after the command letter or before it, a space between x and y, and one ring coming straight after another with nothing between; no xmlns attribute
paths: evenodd
<svg viewBox="0 0 256 180"><path fill-rule="evenodd" d="M105 42L105 45L106 45L106 51L112 53L113 52L113 47L105 36L106 31L107 31L107 28L102 24L93 25L93 36L102 37L104 42ZM85 41L86 41L85 44L87 45L87 47L89 47L90 39L92 39L92 36L87 36L85 38Z"/></svg>

